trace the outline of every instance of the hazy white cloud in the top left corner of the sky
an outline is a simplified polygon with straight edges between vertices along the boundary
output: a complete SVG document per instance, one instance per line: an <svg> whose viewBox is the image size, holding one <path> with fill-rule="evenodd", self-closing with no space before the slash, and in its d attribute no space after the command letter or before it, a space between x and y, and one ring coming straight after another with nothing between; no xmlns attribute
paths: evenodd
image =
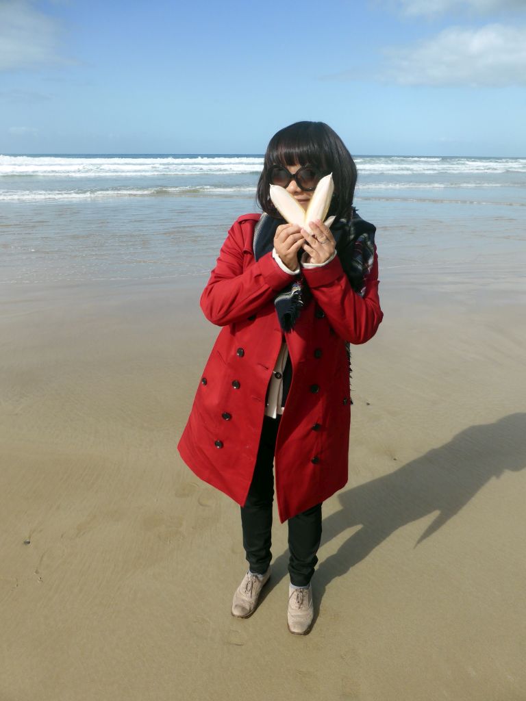
<svg viewBox="0 0 526 701"><path fill-rule="evenodd" d="M0 71L60 62L58 22L29 0L0 0Z"/></svg>

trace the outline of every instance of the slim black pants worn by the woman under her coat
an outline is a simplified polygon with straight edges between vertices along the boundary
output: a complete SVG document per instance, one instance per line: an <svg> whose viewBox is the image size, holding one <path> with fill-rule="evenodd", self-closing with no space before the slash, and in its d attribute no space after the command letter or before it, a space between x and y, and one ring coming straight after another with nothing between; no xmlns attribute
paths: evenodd
<svg viewBox="0 0 526 701"><path fill-rule="evenodd" d="M272 559L271 529L272 501L274 498L274 449L281 417L265 416L254 477L247 501L241 507L243 547L250 571L264 574ZM321 504L288 519L288 547L290 581L297 587L307 587L318 562L316 552L321 540Z"/></svg>

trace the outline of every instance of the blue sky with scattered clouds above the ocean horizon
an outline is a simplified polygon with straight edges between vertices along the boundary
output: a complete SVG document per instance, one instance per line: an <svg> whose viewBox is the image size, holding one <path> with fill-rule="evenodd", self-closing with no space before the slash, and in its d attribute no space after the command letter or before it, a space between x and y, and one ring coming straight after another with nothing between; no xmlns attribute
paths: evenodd
<svg viewBox="0 0 526 701"><path fill-rule="evenodd" d="M526 0L0 0L0 153L526 156Z"/></svg>

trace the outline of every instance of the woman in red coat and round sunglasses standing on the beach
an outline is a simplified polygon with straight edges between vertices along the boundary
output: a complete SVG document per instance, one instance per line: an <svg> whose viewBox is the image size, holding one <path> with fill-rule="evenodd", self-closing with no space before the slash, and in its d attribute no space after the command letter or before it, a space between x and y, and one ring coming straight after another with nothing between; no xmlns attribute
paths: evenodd
<svg viewBox="0 0 526 701"><path fill-rule="evenodd" d="M331 229L287 224L269 198L286 187L306 210L332 172ZM231 613L248 618L270 576L272 501L288 521L288 627L313 621L311 578L321 504L347 481L349 343L382 321L375 227L353 208L356 165L323 122L297 122L272 137L257 186L263 214L229 230L201 296L222 326L179 451L198 477L241 505L249 563Z"/></svg>

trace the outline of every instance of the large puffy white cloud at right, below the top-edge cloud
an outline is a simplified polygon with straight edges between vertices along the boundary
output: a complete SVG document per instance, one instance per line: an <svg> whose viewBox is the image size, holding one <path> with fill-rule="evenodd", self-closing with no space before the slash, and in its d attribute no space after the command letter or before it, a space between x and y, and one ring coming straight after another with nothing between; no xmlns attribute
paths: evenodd
<svg viewBox="0 0 526 701"><path fill-rule="evenodd" d="M450 27L386 54L382 77L405 85L526 85L526 27Z"/></svg>

